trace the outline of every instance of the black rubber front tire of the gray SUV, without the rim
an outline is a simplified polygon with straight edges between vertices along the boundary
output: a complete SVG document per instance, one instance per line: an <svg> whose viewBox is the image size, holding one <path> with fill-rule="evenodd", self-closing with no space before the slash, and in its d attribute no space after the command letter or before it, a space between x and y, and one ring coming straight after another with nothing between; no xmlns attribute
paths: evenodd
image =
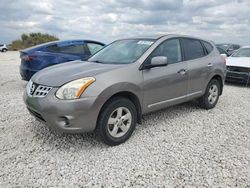
<svg viewBox="0 0 250 188"><path fill-rule="evenodd" d="M117 134L124 133L124 135L122 135L121 137L114 137L111 135L112 131L110 132L110 129L112 128L110 127L113 126L113 130L114 130L115 124L114 125L108 124L108 121L110 120L110 118L112 118L112 115L116 115L116 118L113 118L113 119L118 119L117 118L118 111L117 111L117 114L115 113L116 113L116 110L120 108L126 109L127 113L130 112L131 116L129 117L131 117L131 119L129 122L131 123L128 123L128 121L127 122L124 121L125 123L128 123L130 125L130 126L127 126L129 127L127 132L124 133L121 128L118 128ZM123 120L116 120L116 121L122 121L121 124L124 123ZM102 108L99 118L98 118L98 122L97 122L96 133L102 139L102 141L106 143L107 145L110 145L110 146L119 145L125 142L127 139L129 139L129 137L131 136L131 134L133 133L135 129L136 122L137 122L137 111L136 111L135 105L129 99L115 97L111 99L110 101L108 101ZM125 123L123 124L124 126L125 126ZM116 125L117 124L118 123L116 122ZM123 126L123 125L119 125L119 126ZM119 129L122 133L119 132Z"/></svg>

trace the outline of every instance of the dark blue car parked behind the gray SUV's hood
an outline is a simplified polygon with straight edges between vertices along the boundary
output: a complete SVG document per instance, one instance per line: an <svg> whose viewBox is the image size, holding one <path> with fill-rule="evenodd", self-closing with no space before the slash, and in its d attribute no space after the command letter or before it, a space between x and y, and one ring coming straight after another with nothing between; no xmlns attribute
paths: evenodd
<svg viewBox="0 0 250 188"><path fill-rule="evenodd" d="M23 80L39 70L74 60L87 60L105 44L91 40L66 40L44 43L20 51L20 75Z"/></svg>

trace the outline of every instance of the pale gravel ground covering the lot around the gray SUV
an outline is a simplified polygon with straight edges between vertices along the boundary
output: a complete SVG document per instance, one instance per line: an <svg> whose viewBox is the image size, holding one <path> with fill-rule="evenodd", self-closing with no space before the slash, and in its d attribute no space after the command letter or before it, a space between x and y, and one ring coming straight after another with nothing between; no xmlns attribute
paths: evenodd
<svg viewBox="0 0 250 188"><path fill-rule="evenodd" d="M250 187L250 88L144 117L124 144L52 132L27 112L19 54L0 53L0 187Z"/></svg>

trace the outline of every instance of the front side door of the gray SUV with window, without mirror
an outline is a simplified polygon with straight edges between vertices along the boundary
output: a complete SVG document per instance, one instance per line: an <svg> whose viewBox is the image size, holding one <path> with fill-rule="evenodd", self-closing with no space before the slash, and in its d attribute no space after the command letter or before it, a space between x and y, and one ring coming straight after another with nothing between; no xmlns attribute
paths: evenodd
<svg viewBox="0 0 250 188"><path fill-rule="evenodd" d="M150 64L156 56L166 56L168 65L143 70L144 104L148 111L184 101L187 93L187 63L182 61L180 40L167 39L144 63Z"/></svg>

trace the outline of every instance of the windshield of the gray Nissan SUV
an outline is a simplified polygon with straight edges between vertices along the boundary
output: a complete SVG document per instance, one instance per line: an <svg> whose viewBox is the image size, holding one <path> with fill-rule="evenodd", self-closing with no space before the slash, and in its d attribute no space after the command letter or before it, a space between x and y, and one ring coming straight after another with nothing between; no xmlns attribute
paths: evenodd
<svg viewBox="0 0 250 188"><path fill-rule="evenodd" d="M127 39L111 43L88 61L104 64L129 64L139 59L154 43L151 39Z"/></svg>

